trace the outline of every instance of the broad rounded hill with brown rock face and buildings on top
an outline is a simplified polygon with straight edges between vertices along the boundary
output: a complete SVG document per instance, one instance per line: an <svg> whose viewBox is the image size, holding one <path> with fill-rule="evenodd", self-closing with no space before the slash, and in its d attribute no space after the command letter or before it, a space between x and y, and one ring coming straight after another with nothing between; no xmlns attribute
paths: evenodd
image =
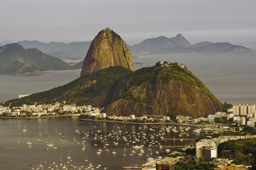
<svg viewBox="0 0 256 170"><path fill-rule="evenodd" d="M110 115L184 115L200 117L222 110L222 103L185 66L141 68L121 79L112 101Z"/></svg>

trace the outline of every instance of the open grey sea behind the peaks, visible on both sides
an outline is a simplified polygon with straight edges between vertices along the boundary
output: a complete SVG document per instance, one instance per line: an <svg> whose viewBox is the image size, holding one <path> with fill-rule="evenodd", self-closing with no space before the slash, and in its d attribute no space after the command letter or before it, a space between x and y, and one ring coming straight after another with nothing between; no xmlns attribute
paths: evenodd
<svg viewBox="0 0 256 170"><path fill-rule="evenodd" d="M133 59L133 62L154 65L165 60L185 64L221 102L256 103L256 53L151 55ZM80 72L46 72L41 76L0 75L0 102L18 98L19 94L41 92L67 84L78 78Z"/></svg>

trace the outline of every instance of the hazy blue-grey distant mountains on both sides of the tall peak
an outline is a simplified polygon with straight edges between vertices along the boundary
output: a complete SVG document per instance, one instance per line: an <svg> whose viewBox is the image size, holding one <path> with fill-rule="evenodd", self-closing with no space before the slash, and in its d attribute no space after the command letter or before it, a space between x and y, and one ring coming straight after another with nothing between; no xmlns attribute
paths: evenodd
<svg viewBox="0 0 256 170"><path fill-rule="evenodd" d="M24 48L37 48L45 53L51 53L58 57L60 53L66 54L86 54L91 41L89 42L39 42L39 41L19 41ZM247 53L252 50L240 46L233 45L229 42L198 42L191 43L183 37L182 34L177 34L175 37L168 38L159 36L157 38L149 38L135 45L128 45L128 49L133 56L146 54L168 54L168 53Z"/></svg>

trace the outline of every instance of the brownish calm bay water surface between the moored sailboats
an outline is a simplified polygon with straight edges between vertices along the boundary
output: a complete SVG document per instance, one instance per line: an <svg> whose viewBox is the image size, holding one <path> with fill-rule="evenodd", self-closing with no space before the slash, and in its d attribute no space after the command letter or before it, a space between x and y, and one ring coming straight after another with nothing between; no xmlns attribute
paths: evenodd
<svg viewBox="0 0 256 170"><path fill-rule="evenodd" d="M24 125L26 125L27 132L23 132ZM80 130L81 134L75 132L77 129ZM139 129L139 127L142 127ZM107 167L108 170L121 170L123 166L135 166L136 164L139 166L146 161L146 154L149 154L150 157L157 156L155 154L156 151L159 152L159 155L165 155L165 149L159 149L158 147L152 148L152 155L150 155L151 151L148 152L148 148L144 147L145 154L139 156L139 149L132 149L130 145L126 146L126 156L123 155L125 142L120 137L118 146L113 144L114 137L107 137L108 143L110 146L107 146L107 149L110 153L107 153L104 148L104 144L100 141L99 137L97 138L98 146L94 146L95 132L101 130L99 135L107 135L110 131L122 131L122 136L128 136L132 132L140 133L145 132L146 134L158 134L160 128L150 126L154 129L154 131L150 131L148 129L144 129L141 125L133 125L133 124L122 124L122 123L110 123L110 122L93 122L93 121L80 121L78 117L62 117L62 118L50 118L50 119L0 119L0 170L23 170L23 168L27 168L30 170L32 167L28 164L31 161L33 167L37 167L38 164L42 161L44 169L47 169L49 163L58 162L58 160L62 159L62 163L68 165L67 156L70 152L71 163L76 163L77 165L84 165L88 167L88 162L85 161L86 156L87 159L91 160L92 164L95 166L101 164L100 170L104 167ZM162 127L167 127L167 125L163 125ZM64 133L64 140L66 142L62 142L62 135L58 133L54 133L55 128L58 132ZM46 129L49 132L46 134ZM195 134L193 133L194 127L189 129L189 136L184 135L182 138L195 138ZM180 130L180 127L177 127L177 130ZM90 132L90 136L87 137L87 142L85 143L85 151L82 152L82 137L83 132ZM125 131L128 133L126 134ZM185 130L184 130L185 131ZM39 132L41 132L41 136L39 136ZM91 134L93 132L93 134ZM165 132L165 137L167 138L179 138L179 132ZM132 134L133 135L133 134ZM50 136L50 138L47 138ZM137 136L135 134L135 136ZM24 140L27 138L27 140ZM41 138L43 140L42 144L40 144L37 139ZM73 141L73 138L76 138L76 142ZM104 137L103 137L104 138ZM46 142L53 143L57 149L53 149L49 147L49 151L45 151ZM133 137L131 137L133 140ZM154 140L158 140L159 138L155 138ZM20 141L20 143L17 143ZM32 148L29 148L29 144L27 142L32 142ZM78 144L77 142L80 142ZM163 141L163 145L185 145L190 144L191 141L182 142L179 141ZM140 144L136 143L136 144ZM134 145L136 145L134 144ZM96 154L98 149L101 148L103 151L101 154ZM136 151L133 155L130 155L131 150ZM117 154L111 154L112 151L115 151ZM171 149L174 151L174 149ZM47 163L44 163L44 161Z"/></svg>

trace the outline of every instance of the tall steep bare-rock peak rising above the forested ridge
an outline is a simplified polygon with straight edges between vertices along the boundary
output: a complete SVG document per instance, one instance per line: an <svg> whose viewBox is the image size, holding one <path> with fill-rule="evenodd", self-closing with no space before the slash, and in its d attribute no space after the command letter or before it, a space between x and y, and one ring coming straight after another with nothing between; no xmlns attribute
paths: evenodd
<svg viewBox="0 0 256 170"><path fill-rule="evenodd" d="M134 70L132 56L123 39L110 28L106 28L91 42L82 65L81 76L112 66Z"/></svg>

